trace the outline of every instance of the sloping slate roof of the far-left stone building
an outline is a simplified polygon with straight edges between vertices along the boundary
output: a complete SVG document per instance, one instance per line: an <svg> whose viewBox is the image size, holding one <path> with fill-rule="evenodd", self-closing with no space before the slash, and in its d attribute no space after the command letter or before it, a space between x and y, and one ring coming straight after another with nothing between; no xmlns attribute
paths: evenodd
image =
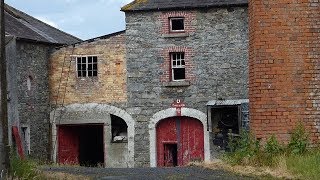
<svg viewBox="0 0 320 180"><path fill-rule="evenodd" d="M65 45L81 41L7 4L5 5L5 31L7 35L18 39L36 42Z"/></svg>

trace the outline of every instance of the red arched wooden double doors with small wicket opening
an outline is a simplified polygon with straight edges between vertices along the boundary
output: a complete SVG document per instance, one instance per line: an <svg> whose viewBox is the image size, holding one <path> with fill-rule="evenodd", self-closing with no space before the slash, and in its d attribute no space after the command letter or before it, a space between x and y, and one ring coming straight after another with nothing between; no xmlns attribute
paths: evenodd
<svg viewBox="0 0 320 180"><path fill-rule="evenodd" d="M204 160L201 121L185 116L161 120L156 127L157 166L184 166Z"/></svg>

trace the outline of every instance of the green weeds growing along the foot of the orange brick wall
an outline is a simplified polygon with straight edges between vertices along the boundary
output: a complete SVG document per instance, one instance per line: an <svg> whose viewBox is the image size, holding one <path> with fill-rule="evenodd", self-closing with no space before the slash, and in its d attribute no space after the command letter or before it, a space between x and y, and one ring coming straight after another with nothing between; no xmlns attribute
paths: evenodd
<svg viewBox="0 0 320 180"><path fill-rule="evenodd" d="M240 137L229 140L230 152L224 157L231 164L273 167L278 164L280 156L306 153L308 144L308 135L302 123L293 129L287 145L280 144L276 136L272 135L262 146L252 134L243 131Z"/></svg>

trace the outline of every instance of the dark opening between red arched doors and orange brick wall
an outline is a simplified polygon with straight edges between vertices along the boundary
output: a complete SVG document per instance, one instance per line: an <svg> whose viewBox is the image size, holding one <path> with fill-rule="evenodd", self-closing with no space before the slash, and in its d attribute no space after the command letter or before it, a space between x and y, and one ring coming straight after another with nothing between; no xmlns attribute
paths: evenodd
<svg viewBox="0 0 320 180"><path fill-rule="evenodd" d="M230 137L238 137L239 106L221 106L212 108L212 132L214 133L213 144L219 146L221 150L228 151L228 141Z"/></svg>

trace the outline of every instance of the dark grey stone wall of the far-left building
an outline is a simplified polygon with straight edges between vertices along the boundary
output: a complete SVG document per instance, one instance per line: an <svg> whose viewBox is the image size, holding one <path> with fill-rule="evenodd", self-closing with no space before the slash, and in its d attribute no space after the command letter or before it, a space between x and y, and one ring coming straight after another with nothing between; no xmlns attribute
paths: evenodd
<svg viewBox="0 0 320 180"><path fill-rule="evenodd" d="M49 132L48 58L53 47L17 41L16 76L20 123L30 126L31 155L47 159ZM28 79L30 85L28 85Z"/></svg>

